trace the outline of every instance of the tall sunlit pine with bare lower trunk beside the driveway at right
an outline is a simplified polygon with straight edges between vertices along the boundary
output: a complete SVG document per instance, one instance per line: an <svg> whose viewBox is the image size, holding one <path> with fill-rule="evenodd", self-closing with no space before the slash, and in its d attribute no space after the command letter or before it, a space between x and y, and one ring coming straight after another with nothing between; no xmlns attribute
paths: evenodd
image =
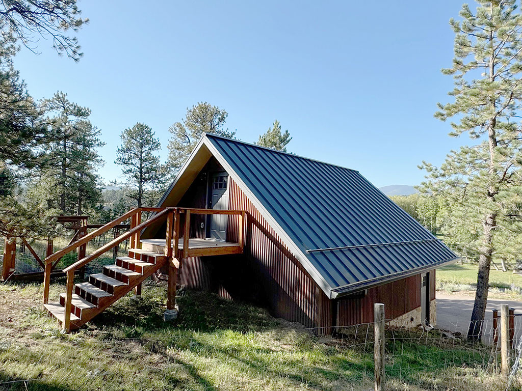
<svg viewBox="0 0 522 391"><path fill-rule="evenodd" d="M440 167L428 170L424 191L439 193L452 208L456 224L470 233L465 238L479 253L477 290L468 338L480 339L488 299L489 273L498 249L501 227L520 219L520 124L522 109L522 16L514 0L478 1L476 11L467 4L461 21L450 20L455 31L452 75L454 101L438 104L435 116L443 121L456 116L450 136L468 133L473 145L451 151ZM476 240L473 240L473 236ZM515 245L515 243L513 243Z"/></svg>

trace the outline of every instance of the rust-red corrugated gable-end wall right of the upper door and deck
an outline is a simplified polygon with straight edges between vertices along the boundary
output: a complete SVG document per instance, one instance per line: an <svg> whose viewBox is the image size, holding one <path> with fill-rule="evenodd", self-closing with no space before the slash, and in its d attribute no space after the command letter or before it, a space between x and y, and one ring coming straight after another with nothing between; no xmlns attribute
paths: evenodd
<svg viewBox="0 0 522 391"><path fill-rule="evenodd" d="M245 210L247 234L242 258L254 281L255 299L275 316L308 327L331 326L331 302L286 248L259 211L233 180L229 180L229 208ZM238 240L238 217L228 225L228 241ZM245 278L243 276L242 278Z"/></svg>

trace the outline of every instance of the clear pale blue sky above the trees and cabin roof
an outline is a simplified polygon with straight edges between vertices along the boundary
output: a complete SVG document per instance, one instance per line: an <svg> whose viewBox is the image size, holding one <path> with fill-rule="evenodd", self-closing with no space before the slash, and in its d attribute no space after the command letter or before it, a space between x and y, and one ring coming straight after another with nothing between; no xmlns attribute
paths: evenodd
<svg viewBox="0 0 522 391"><path fill-rule="evenodd" d="M284 3L284 4L282 4ZM102 131L105 180L124 128L168 128L188 106L226 109L227 127L256 141L275 119L288 150L358 169L377 186L416 185L422 160L440 164L468 142L433 118L453 87L460 2L79 1L85 56L59 57L40 40L15 66L37 99L57 90L92 109Z"/></svg>

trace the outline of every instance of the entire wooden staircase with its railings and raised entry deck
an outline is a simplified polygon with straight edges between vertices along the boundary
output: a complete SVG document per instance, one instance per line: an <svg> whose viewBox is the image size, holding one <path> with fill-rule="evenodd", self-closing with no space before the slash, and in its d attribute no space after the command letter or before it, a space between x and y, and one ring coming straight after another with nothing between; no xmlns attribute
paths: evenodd
<svg viewBox="0 0 522 391"><path fill-rule="evenodd" d="M142 222L142 212L153 212L153 215ZM189 248L191 213L237 215L239 226L241 227L239 230L239 244L229 247L195 248L191 250ZM135 289L136 294L139 295L141 283L158 271L160 267L166 265L168 267L169 281L167 286L167 310L165 311L164 319L175 319L175 315L177 315L175 306L176 283L180 260L188 256L238 254L243 252L246 229L245 213L245 211L180 207L134 208L91 233L84 233L84 236L75 242L69 243L68 246L45 258L43 306L50 315L54 316L62 324L62 328L68 333L71 329L84 325L131 290ZM182 218L183 226L181 225ZM131 229L127 232L114 238L89 255L85 255L85 250L83 252L77 250L82 247L85 248L90 240L103 235L127 219L131 220ZM164 219L167 220L164 253L155 252L158 250L142 249L141 231L153 223L163 223ZM76 271L127 239L130 239L131 247L131 250L128 251L128 256L117 257L114 265L103 267L103 273L91 274L89 282L74 283ZM183 243L182 248L180 248L180 241ZM64 268L63 272L67 275L66 292L60 295L58 301L49 302L52 268L60 261L62 256L71 251L78 251L78 254L82 254L83 258Z"/></svg>

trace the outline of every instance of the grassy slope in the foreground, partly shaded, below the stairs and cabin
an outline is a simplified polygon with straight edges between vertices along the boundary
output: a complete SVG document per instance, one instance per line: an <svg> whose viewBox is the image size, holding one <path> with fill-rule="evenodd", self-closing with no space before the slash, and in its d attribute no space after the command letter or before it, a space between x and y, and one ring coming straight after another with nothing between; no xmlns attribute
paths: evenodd
<svg viewBox="0 0 522 391"><path fill-rule="evenodd" d="M62 285L52 285L52 296L60 291ZM87 328L62 335L40 310L40 297L39 285L0 285L0 389L293 391L372 385L371 326L343 339L318 338L263 309L191 291L179 299L179 319L164 323L165 289L146 286L143 298L125 297ZM447 350L428 339L420 344L412 336L408 332L387 346L388 389L504 389L476 369L483 358L475 351L455 343ZM390 349L400 356L392 360ZM33 380L7 383L25 379Z"/></svg>

